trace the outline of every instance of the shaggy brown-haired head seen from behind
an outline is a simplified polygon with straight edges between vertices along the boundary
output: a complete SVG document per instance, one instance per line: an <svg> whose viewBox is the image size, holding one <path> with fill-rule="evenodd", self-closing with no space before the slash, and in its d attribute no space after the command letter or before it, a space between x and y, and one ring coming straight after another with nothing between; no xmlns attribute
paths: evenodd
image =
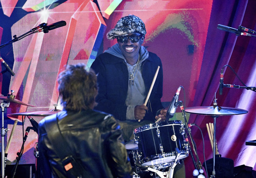
<svg viewBox="0 0 256 178"><path fill-rule="evenodd" d="M65 109L81 110L93 108L98 93L97 76L85 64L68 65L59 74L58 90Z"/></svg>

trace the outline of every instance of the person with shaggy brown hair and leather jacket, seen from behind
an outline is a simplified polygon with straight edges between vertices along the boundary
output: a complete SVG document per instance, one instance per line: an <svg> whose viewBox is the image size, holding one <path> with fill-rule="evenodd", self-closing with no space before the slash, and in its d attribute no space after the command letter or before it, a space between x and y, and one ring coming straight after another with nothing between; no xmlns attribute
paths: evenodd
<svg viewBox="0 0 256 178"><path fill-rule="evenodd" d="M59 74L63 111L39 122L39 177L132 177L122 131L115 118L93 110L97 77L85 64Z"/></svg>

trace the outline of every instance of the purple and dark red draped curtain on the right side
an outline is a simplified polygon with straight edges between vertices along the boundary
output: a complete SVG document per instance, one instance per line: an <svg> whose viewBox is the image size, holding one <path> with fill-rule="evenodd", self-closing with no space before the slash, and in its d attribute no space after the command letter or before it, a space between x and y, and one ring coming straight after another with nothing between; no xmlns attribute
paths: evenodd
<svg viewBox="0 0 256 178"><path fill-rule="evenodd" d="M239 36L217 29L218 24L238 28L239 25L256 29L255 1L213 1L210 23L202 67L194 98L194 106L212 106L214 92L218 106L246 109L247 114L220 116L216 120L216 138L219 154L234 160L234 166L245 164L256 170L256 146L246 146L245 142L256 139L255 101L256 93L246 89L223 88L219 95L221 68L230 65L247 86L256 86L256 37ZM243 86L230 68L224 68L224 84ZM203 131L206 160L212 158L211 145L206 123L213 118L190 115L190 123L196 123ZM199 130L192 128L198 155L203 163L203 142ZM187 176L194 169L191 158L185 160Z"/></svg>

